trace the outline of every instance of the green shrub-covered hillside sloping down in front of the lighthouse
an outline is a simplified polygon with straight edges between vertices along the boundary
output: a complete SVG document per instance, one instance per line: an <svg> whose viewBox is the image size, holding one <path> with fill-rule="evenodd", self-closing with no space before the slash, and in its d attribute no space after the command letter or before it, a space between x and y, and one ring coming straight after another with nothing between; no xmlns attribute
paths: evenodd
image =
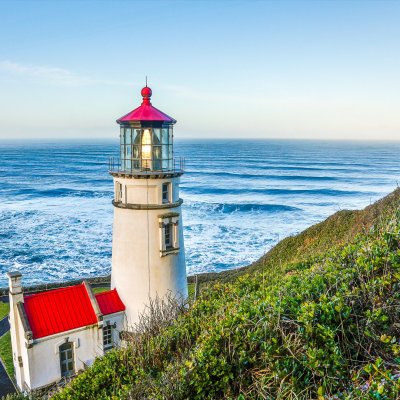
<svg viewBox="0 0 400 400"><path fill-rule="evenodd" d="M399 398L399 198L337 213L247 269L203 276L175 321L150 321L54 398Z"/></svg>

